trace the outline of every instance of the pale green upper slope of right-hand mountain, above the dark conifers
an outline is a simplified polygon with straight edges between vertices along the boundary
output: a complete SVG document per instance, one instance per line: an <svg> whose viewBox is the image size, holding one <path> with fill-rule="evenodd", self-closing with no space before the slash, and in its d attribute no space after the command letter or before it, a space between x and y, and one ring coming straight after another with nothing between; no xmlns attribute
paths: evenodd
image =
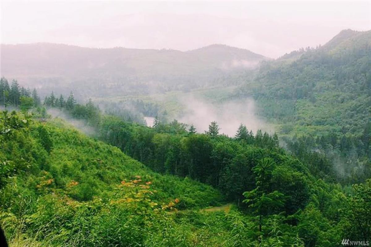
<svg viewBox="0 0 371 247"><path fill-rule="evenodd" d="M236 91L282 134L360 134L371 116L371 31L343 30L317 48L265 62Z"/></svg>

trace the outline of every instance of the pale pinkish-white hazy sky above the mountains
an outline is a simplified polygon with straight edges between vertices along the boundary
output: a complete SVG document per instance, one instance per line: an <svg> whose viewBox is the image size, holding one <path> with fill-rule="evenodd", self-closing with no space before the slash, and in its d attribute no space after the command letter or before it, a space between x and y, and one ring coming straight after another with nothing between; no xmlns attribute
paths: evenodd
<svg viewBox="0 0 371 247"><path fill-rule="evenodd" d="M366 1L4 1L1 43L186 51L222 43L276 58L371 29Z"/></svg>

